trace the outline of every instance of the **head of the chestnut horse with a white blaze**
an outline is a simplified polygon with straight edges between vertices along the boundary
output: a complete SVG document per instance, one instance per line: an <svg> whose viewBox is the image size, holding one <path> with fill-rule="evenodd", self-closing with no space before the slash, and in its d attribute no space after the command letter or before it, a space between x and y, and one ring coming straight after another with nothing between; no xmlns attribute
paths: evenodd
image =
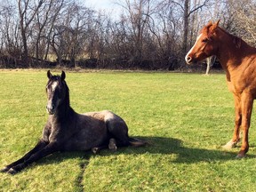
<svg viewBox="0 0 256 192"><path fill-rule="evenodd" d="M196 63L216 54L218 45L215 37L219 22L220 20L213 24L210 22L201 30L200 35L196 38L196 43L185 57L188 64Z"/></svg>

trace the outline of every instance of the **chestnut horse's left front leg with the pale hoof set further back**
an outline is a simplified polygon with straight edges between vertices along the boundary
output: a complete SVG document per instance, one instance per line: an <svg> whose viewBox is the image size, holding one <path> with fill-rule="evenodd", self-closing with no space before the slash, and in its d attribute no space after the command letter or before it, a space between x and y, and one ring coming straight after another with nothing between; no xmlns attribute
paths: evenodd
<svg viewBox="0 0 256 192"><path fill-rule="evenodd" d="M242 104L241 104L241 97L234 94L234 100L235 100L235 129L233 133L232 140L228 141L226 145L223 146L223 148L231 149L236 147L236 144L240 140L240 126L242 123Z"/></svg>

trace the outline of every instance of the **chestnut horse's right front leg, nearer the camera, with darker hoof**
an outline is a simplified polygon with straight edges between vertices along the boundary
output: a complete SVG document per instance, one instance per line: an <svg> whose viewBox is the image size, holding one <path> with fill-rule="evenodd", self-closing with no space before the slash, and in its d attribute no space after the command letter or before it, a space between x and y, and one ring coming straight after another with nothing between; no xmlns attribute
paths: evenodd
<svg viewBox="0 0 256 192"><path fill-rule="evenodd" d="M252 106L253 106L253 98L250 92L244 92L242 95L242 124L241 127L243 129L243 140L240 151L236 157L241 158L244 157L247 151L249 150L249 128L251 124L251 116L252 116Z"/></svg>

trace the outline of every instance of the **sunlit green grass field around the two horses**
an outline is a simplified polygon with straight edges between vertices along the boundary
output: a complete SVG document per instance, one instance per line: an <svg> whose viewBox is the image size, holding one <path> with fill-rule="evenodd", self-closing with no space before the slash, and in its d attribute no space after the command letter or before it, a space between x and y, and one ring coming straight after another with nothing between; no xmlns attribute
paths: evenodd
<svg viewBox="0 0 256 192"><path fill-rule="evenodd" d="M60 73L60 71L59 71ZM53 72L53 74L56 74ZM0 191L256 191L254 108L248 156L221 145L233 133L225 75L67 72L76 112L109 109L143 148L56 153L14 176ZM0 71L0 166L34 147L47 119L46 70Z"/></svg>

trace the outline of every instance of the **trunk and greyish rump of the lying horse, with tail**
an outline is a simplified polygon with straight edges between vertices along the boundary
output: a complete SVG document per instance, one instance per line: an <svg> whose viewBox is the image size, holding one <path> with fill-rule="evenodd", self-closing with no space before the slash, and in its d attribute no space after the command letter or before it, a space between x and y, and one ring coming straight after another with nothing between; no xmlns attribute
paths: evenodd
<svg viewBox="0 0 256 192"><path fill-rule="evenodd" d="M76 143L72 145L77 149L88 150L95 147L108 145L114 139L117 147L142 146L146 143L128 136L128 126L124 119L115 113L103 110L87 112L79 117L78 130L75 135Z"/></svg>

